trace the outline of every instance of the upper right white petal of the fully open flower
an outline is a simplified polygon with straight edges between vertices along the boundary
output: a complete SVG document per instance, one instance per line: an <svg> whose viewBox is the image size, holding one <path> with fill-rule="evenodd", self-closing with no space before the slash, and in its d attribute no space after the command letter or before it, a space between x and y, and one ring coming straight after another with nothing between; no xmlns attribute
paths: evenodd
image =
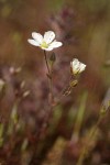
<svg viewBox="0 0 110 165"><path fill-rule="evenodd" d="M53 31L48 31L44 33L44 41L50 44L55 38L55 33Z"/></svg>

